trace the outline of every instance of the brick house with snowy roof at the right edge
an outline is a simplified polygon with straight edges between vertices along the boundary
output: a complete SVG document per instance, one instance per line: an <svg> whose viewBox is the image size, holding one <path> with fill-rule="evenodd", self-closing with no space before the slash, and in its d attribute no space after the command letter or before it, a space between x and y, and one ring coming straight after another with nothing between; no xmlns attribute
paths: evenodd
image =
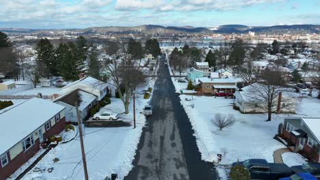
<svg viewBox="0 0 320 180"><path fill-rule="evenodd" d="M282 137L293 151L299 151L313 162L320 163L320 118L284 119Z"/></svg>

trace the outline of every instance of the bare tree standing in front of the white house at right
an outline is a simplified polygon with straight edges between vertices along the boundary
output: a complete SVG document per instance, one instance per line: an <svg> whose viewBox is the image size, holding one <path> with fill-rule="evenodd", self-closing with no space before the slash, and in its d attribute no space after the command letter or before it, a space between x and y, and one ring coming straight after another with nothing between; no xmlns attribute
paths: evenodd
<svg viewBox="0 0 320 180"><path fill-rule="evenodd" d="M285 90L282 86L284 81L281 72L272 70L265 70L261 74L261 80L261 83L250 85L251 91L248 93L248 96L251 99L252 105L267 112L267 121L271 121L271 114L278 109L279 95L282 95L282 92ZM284 98L281 98L281 102L284 102Z"/></svg>

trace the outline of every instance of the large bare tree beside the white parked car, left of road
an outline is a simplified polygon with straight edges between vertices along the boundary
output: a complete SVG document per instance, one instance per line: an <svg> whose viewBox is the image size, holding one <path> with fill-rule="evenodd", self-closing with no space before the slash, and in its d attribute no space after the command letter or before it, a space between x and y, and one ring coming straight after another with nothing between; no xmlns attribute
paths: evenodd
<svg viewBox="0 0 320 180"><path fill-rule="evenodd" d="M109 42L105 51L109 55L104 63L105 70L110 74L107 83L116 87L127 114L131 93L146 82L146 76L140 66L141 59L132 59L127 51L126 42Z"/></svg>

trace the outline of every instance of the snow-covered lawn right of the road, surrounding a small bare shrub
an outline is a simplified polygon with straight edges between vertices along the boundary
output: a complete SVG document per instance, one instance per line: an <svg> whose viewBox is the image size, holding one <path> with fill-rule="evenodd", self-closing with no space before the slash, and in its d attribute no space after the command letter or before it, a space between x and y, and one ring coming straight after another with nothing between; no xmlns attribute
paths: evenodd
<svg viewBox="0 0 320 180"><path fill-rule="evenodd" d="M234 110L232 99L194 96L194 100L191 100L190 95L180 97L195 130L202 159L209 162L217 161L217 154L221 153L221 164L248 158L263 158L268 162L274 162L274 151L285 147L274 140L278 124L286 117L301 116L274 114L272 121L267 122L265 114L241 114L238 110ZM319 102L315 98L304 98L299 113L320 116L320 110L315 106ZM235 124L220 131L213 124L214 115L217 113L234 115Z"/></svg>

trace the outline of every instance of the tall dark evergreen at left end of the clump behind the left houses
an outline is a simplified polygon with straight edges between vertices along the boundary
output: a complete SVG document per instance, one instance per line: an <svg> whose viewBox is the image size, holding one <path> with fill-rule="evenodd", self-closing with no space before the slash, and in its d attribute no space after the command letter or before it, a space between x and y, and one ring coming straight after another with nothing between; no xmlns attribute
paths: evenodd
<svg viewBox="0 0 320 180"><path fill-rule="evenodd" d="M51 42L44 38L36 45L36 63L40 76L56 76L57 61L55 61L55 48Z"/></svg>

